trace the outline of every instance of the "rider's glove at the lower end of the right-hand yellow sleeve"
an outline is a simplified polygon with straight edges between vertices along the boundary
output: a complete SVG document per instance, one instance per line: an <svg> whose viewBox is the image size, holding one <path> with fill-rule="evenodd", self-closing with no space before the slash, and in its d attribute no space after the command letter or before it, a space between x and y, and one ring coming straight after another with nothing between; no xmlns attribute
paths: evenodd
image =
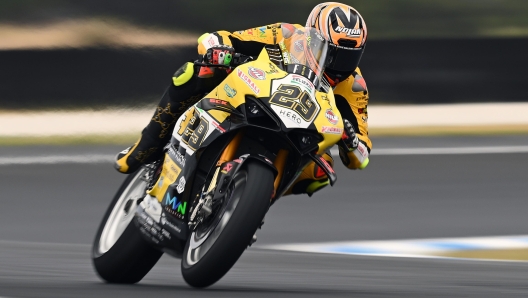
<svg viewBox="0 0 528 298"><path fill-rule="evenodd" d="M352 123L343 119L344 131L339 141L339 157L349 169L364 169L369 163L367 146L361 143L354 131Z"/></svg>

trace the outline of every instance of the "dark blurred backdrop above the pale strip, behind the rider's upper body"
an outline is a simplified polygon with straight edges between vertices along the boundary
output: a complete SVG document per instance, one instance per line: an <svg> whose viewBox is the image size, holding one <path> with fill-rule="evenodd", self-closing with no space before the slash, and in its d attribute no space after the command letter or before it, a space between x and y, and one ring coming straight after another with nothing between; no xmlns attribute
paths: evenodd
<svg viewBox="0 0 528 298"><path fill-rule="evenodd" d="M204 32L304 24L313 0L2 0L0 109L158 101ZM344 1L365 18L371 104L528 101L525 0Z"/></svg>

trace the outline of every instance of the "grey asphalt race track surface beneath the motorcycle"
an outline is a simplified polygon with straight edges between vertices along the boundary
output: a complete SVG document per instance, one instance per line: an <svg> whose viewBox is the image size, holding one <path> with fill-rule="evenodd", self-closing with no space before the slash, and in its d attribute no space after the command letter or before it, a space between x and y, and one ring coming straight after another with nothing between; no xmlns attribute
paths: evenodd
<svg viewBox="0 0 528 298"><path fill-rule="evenodd" d="M375 149L526 146L528 136L374 138ZM4 159L103 154L119 146L2 147ZM137 285L109 285L90 245L124 176L109 162L0 165L0 297L527 297L528 262L391 258L266 249L269 244L527 234L528 153L383 155L364 171L284 197L257 243L206 290L163 257Z"/></svg>

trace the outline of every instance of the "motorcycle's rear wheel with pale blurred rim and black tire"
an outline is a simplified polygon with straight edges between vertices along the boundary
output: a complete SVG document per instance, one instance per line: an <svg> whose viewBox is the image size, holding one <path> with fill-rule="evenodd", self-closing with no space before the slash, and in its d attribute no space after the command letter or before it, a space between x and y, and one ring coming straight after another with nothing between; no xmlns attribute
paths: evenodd
<svg viewBox="0 0 528 298"><path fill-rule="evenodd" d="M92 261L97 274L110 283L139 282L163 254L145 240L133 223L137 205L145 196L147 170L128 175L97 231Z"/></svg>

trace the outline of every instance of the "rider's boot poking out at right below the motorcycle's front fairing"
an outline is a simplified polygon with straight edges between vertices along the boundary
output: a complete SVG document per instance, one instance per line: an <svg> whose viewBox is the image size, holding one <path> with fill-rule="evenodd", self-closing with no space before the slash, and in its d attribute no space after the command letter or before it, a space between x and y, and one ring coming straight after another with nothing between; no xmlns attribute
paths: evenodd
<svg viewBox="0 0 528 298"><path fill-rule="evenodd" d="M323 158L333 167L334 159L330 154L324 153ZM297 177L297 180L292 184L286 194L308 194L312 196L314 192L322 189L330 183L328 176L326 176L323 169L321 169L315 162L312 162L303 172Z"/></svg>

